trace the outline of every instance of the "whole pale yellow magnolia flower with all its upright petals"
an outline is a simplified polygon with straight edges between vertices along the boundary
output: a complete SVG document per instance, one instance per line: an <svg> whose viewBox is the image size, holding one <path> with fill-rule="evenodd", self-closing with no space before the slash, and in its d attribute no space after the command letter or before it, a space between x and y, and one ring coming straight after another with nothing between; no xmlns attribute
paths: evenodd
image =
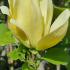
<svg viewBox="0 0 70 70"><path fill-rule="evenodd" d="M9 11L0 9L9 16L8 25L24 45L38 50L53 47L64 38L70 11L66 9L52 23L52 0L8 0Z"/></svg>

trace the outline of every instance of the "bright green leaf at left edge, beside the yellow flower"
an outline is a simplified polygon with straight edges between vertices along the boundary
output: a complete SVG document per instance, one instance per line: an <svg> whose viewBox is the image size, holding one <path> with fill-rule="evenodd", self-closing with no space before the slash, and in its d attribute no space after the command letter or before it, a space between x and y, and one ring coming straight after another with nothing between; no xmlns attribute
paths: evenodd
<svg viewBox="0 0 70 70"><path fill-rule="evenodd" d="M6 24L0 24L0 46L5 46L11 43L15 43L15 39L12 33L7 28Z"/></svg>

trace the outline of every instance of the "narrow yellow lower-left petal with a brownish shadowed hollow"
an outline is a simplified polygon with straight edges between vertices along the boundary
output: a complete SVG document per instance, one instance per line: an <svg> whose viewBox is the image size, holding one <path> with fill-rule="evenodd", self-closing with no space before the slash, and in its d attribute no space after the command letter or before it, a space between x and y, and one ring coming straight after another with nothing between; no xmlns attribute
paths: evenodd
<svg viewBox="0 0 70 70"><path fill-rule="evenodd" d="M19 41L21 41L26 47L30 47L29 41L28 41L27 36L25 35L24 31L22 31L15 24L9 23L8 27L11 29L12 33Z"/></svg>

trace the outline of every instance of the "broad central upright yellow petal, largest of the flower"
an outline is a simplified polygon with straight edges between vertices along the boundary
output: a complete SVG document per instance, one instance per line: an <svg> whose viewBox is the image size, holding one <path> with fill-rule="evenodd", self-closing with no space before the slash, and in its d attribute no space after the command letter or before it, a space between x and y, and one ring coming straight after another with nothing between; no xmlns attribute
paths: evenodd
<svg viewBox="0 0 70 70"><path fill-rule="evenodd" d="M17 0L17 23L25 32L32 46L41 39L43 34L42 16L38 0Z"/></svg>

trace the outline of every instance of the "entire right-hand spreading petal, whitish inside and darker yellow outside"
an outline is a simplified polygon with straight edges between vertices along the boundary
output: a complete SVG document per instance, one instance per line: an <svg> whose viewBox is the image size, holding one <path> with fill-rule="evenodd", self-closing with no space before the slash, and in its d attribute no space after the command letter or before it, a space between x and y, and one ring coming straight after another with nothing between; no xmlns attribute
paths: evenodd
<svg viewBox="0 0 70 70"><path fill-rule="evenodd" d="M36 48L38 50L44 50L53 47L54 45L62 41L67 32L69 17L69 10L65 10L64 12L62 12L55 20L56 23L52 24L49 34L39 41Z"/></svg>

